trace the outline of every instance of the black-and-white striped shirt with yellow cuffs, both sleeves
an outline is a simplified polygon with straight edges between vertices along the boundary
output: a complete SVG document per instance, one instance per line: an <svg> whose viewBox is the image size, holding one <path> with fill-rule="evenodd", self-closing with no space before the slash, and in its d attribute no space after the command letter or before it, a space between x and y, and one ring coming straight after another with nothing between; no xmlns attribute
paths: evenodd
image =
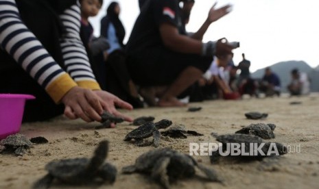
<svg viewBox="0 0 319 189"><path fill-rule="evenodd" d="M60 15L67 33L60 39L67 73L21 21L14 0L0 0L0 44L58 102L73 86L100 89L80 39L80 4ZM0 62L1 64L1 62ZM71 76L71 77L70 77Z"/></svg>

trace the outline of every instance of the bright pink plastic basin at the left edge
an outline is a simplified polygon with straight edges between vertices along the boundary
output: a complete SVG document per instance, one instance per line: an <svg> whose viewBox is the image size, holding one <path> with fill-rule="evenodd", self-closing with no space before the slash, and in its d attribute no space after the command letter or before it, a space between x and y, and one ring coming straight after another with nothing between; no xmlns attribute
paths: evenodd
<svg viewBox="0 0 319 189"><path fill-rule="evenodd" d="M20 131L25 100L32 95L0 94L0 139Z"/></svg>

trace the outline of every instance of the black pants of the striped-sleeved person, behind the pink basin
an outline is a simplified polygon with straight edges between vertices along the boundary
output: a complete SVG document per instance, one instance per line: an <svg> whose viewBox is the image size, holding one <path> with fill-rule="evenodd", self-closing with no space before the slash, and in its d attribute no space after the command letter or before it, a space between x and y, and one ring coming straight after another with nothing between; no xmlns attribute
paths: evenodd
<svg viewBox="0 0 319 189"><path fill-rule="evenodd" d="M47 92L19 67L0 69L0 93L28 94L36 97L34 100L26 101L23 122L45 121L63 114L64 111L64 105L56 105Z"/></svg>

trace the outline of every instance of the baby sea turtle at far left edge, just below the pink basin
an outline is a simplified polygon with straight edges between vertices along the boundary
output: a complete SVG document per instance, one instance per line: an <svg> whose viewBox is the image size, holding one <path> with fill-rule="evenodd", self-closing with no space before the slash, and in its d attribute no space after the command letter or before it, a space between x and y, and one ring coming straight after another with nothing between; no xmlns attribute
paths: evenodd
<svg viewBox="0 0 319 189"><path fill-rule="evenodd" d="M13 134L1 140L0 144L5 151L14 151L16 155L24 155L26 150L32 146L32 142L23 134Z"/></svg>

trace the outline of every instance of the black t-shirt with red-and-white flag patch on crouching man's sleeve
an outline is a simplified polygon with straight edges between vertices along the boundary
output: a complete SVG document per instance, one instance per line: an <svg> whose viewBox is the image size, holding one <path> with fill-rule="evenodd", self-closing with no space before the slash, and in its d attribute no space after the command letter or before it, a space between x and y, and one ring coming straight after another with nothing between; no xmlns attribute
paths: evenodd
<svg viewBox="0 0 319 189"><path fill-rule="evenodd" d="M178 28L180 34L186 34L177 0L146 1L144 6L126 46L130 55L163 46L159 31L162 23L170 23Z"/></svg>

